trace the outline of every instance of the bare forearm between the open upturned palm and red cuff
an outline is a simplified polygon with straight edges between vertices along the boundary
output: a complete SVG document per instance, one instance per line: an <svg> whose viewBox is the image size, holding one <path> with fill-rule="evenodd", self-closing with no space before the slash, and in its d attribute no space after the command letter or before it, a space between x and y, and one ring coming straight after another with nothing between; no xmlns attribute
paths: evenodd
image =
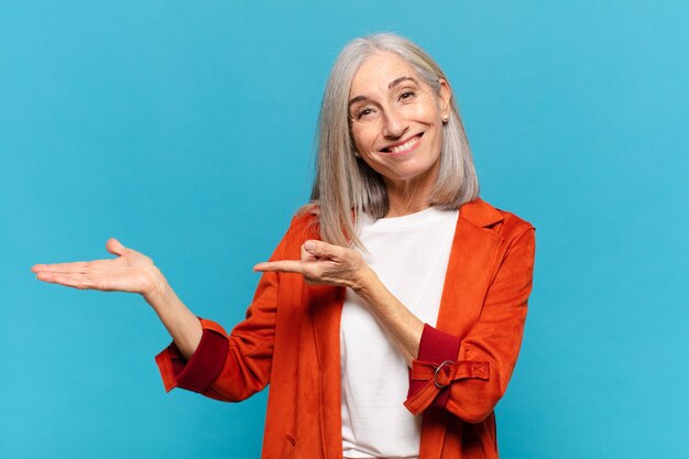
<svg viewBox="0 0 689 459"><path fill-rule="evenodd" d="M151 293L144 295L144 299L155 310L185 359L189 359L201 340L201 325L160 272L155 285Z"/></svg>

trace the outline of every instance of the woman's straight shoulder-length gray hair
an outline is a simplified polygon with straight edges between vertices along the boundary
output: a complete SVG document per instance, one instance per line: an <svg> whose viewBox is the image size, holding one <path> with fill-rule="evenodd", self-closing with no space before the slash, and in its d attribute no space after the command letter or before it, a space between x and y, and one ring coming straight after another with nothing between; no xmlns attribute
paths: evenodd
<svg viewBox="0 0 689 459"><path fill-rule="evenodd" d="M365 212L378 219L389 210L382 177L354 155L348 108L354 74L368 57L380 52L402 57L438 95L439 80L447 81L438 64L426 52L409 40L391 33L356 39L336 59L318 117L316 177L311 192L311 204L316 206L309 208L317 209L321 238L338 245L363 248L357 237L354 216ZM428 201L440 209L455 210L478 196L479 182L471 150L452 97L450 117L442 129L438 178Z"/></svg>

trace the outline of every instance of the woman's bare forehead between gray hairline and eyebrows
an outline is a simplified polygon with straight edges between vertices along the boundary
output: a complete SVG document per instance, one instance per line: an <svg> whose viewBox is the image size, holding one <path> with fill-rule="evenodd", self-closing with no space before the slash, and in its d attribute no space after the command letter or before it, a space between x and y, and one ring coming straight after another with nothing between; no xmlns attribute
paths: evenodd
<svg viewBox="0 0 689 459"><path fill-rule="evenodd" d="M422 83L418 73L405 59L394 53L372 54L361 64L349 89L349 96L364 95L371 90L386 90L387 85L400 77L413 77Z"/></svg>

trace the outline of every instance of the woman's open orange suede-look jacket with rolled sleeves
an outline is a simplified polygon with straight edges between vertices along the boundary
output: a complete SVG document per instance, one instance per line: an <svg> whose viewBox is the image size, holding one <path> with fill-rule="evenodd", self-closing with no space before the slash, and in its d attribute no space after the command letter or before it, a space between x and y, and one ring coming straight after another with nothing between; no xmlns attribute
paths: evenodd
<svg viewBox="0 0 689 459"><path fill-rule="evenodd" d="M297 216L271 259L299 259L307 239L319 239L315 218ZM460 208L438 320L425 327L405 403L423 415L420 459L497 458L493 408L522 342L534 249L534 228L513 214L481 199ZM270 383L262 458L342 459L343 299L343 287L264 273L231 334L200 319L204 336L188 362L174 343L156 356L165 389L238 402ZM434 336L457 343L449 362L423 360Z"/></svg>

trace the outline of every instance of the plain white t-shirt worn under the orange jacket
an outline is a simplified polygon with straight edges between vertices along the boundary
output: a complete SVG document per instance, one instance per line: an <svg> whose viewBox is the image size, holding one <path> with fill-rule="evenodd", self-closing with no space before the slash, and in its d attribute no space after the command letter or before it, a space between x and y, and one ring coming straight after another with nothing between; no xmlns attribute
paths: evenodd
<svg viewBox="0 0 689 459"><path fill-rule="evenodd" d="M422 321L435 326L458 211L428 208L373 221L362 216L364 260ZM403 405L408 367L363 299L347 289L340 326L346 458L418 458L420 415Z"/></svg>

